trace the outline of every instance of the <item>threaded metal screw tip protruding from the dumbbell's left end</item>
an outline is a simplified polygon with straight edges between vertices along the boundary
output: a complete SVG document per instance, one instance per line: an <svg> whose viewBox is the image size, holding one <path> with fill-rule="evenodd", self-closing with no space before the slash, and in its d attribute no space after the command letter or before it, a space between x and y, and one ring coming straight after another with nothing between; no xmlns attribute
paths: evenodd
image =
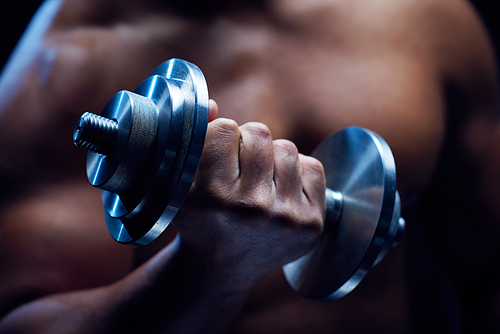
<svg viewBox="0 0 500 334"><path fill-rule="evenodd" d="M80 117L73 131L73 142L77 147L108 155L116 141L118 122L86 112Z"/></svg>

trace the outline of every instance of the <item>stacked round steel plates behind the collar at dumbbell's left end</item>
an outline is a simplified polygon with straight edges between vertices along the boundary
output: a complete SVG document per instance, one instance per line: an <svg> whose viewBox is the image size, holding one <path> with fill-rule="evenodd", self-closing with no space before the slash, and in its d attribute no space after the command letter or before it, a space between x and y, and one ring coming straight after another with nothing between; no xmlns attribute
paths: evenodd
<svg viewBox="0 0 500 334"><path fill-rule="evenodd" d="M155 80L158 77L167 79L169 89L164 94L168 93L168 98L158 96L155 91L156 81L161 81ZM103 191L103 200L111 207L116 205L122 209L105 210L106 224L113 238L120 243L142 246L156 239L170 224L191 187L205 143L208 88L197 66L171 59L158 66L136 92L156 100L157 105L159 102L164 105L164 110L159 108L159 121L164 119L170 125L167 130L159 131L155 151L158 146L163 147L162 156L159 164L153 164L156 170L145 173L154 176L148 182L149 187L144 187L148 190L142 200L134 198L137 196L134 191L119 196ZM163 117L162 112L168 113L169 117ZM123 210L126 202L138 204L132 205L132 210ZM112 217L109 212L123 212L125 215Z"/></svg>

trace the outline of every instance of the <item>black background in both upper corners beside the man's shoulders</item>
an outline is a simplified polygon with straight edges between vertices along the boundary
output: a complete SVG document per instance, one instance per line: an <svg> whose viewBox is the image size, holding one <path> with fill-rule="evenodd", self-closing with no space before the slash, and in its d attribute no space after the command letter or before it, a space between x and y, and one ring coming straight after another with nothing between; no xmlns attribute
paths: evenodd
<svg viewBox="0 0 500 334"><path fill-rule="evenodd" d="M14 0L11 4L4 4L0 11L0 28L1 47L0 47L0 67L3 68L9 54L16 45L17 40L21 37L26 25L33 16L36 9L43 0ZM140 1L140 0L138 0ZM474 0L472 3L478 9L483 17L492 40L495 43L496 50L500 45L500 20L498 6L495 6L497 1L494 0ZM495 8L496 7L496 8ZM498 55L498 51L497 51Z"/></svg>

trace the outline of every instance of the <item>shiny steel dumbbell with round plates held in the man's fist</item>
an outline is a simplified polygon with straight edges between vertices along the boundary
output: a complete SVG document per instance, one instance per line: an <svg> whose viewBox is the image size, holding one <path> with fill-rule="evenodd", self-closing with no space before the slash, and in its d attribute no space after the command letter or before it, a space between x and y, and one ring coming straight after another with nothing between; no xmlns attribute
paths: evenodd
<svg viewBox="0 0 500 334"><path fill-rule="evenodd" d="M201 70L171 59L101 115L84 113L73 141L88 150L87 176L101 189L106 225L119 243L143 246L169 225L194 179L208 123ZM318 300L338 299L397 245L405 228L396 166L377 134L349 127L312 153L324 166L324 230L315 247L283 266L290 286Z"/></svg>

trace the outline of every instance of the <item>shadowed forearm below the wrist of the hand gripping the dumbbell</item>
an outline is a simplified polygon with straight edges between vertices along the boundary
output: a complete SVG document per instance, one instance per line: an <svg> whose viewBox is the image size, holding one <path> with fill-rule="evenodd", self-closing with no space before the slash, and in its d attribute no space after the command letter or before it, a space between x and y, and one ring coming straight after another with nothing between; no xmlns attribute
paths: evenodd
<svg viewBox="0 0 500 334"><path fill-rule="evenodd" d="M111 286L25 304L0 321L0 333L224 333L249 289L208 267L198 270L179 245Z"/></svg>

